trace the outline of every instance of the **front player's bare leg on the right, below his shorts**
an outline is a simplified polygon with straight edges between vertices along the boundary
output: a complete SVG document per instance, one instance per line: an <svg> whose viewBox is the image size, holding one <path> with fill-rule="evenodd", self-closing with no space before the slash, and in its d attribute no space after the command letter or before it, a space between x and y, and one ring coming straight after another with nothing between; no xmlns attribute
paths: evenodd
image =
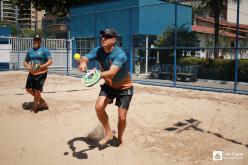
<svg viewBox="0 0 248 165"><path fill-rule="evenodd" d="M118 108L118 146L123 143L122 137L126 128L127 109Z"/></svg>

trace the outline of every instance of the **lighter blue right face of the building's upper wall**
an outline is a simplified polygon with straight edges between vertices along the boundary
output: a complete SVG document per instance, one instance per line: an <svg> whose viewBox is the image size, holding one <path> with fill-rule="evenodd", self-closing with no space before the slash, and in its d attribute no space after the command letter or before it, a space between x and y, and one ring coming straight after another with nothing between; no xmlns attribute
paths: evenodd
<svg viewBox="0 0 248 165"><path fill-rule="evenodd" d="M148 3L150 2L150 3ZM177 26L186 24L191 29L192 10L188 6L177 5ZM156 0L140 0L139 34L158 35L166 27L175 24L175 4Z"/></svg>

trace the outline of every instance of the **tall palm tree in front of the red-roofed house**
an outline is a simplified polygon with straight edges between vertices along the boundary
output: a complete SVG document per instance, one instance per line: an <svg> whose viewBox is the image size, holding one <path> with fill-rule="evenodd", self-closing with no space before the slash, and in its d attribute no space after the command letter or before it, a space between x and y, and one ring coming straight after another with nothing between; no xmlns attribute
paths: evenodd
<svg viewBox="0 0 248 165"><path fill-rule="evenodd" d="M219 47L219 34L220 34L220 15L226 9L229 2L237 3L238 0L200 0L206 6L211 16L214 18L214 47ZM240 0L241 1L241 0ZM215 49L214 57L218 58L219 50Z"/></svg>

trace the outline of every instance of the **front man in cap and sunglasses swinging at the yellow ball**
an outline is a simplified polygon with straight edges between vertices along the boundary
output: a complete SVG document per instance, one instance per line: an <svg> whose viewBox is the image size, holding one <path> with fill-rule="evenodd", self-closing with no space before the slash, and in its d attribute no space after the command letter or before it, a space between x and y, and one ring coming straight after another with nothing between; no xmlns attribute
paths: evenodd
<svg viewBox="0 0 248 165"><path fill-rule="evenodd" d="M130 78L126 53L116 46L117 33L113 29L100 31L101 47L93 49L79 61L79 70L85 71L87 63L97 60L101 69L101 78L105 83L96 100L97 117L102 123L106 136L99 141L103 145L113 139L108 115L105 108L116 99L118 106L118 146L123 144L123 133L126 128L126 116L133 95L133 84Z"/></svg>

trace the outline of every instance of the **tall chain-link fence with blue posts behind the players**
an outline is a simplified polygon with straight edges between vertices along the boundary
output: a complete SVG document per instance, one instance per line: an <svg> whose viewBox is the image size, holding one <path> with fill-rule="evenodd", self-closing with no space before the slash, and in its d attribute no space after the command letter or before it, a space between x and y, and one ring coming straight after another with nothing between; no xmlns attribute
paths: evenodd
<svg viewBox="0 0 248 165"><path fill-rule="evenodd" d="M139 5L118 1L86 9L84 5L81 11L72 8L68 17L33 22L33 34L43 37L54 56L60 55L54 58L53 72L80 76L72 55L100 46L99 31L113 27L135 82L247 94L248 2L219 1L216 14L216 5L210 1L144 1ZM17 30L17 38L28 36L24 29ZM19 47L11 58L19 61L16 68L21 68L22 54L32 47L31 40L22 42L0 48L4 52ZM97 67L97 62L90 66Z"/></svg>

